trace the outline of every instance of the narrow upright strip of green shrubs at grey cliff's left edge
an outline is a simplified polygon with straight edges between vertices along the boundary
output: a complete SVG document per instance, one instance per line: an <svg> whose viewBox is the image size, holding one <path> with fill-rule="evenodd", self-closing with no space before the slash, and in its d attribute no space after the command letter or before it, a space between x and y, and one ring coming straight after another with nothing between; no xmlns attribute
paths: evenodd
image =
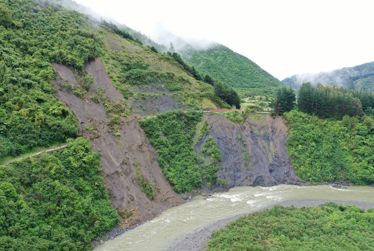
<svg viewBox="0 0 374 251"><path fill-rule="evenodd" d="M221 162L221 152L213 137L208 136L202 146L201 153L203 154L201 160L202 181L211 188L218 182L218 170Z"/></svg>

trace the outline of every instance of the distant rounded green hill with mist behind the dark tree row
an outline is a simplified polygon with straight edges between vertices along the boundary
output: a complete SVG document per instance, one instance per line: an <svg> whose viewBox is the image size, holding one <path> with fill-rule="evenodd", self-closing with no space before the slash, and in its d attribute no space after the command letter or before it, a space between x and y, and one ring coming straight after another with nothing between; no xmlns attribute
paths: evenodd
<svg viewBox="0 0 374 251"><path fill-rule="evenodd" d="M182 50L183 58L203 74L222 81L242 96L272 95L281 82L256 65L250 59L223 45L208 49Z"/></svg>

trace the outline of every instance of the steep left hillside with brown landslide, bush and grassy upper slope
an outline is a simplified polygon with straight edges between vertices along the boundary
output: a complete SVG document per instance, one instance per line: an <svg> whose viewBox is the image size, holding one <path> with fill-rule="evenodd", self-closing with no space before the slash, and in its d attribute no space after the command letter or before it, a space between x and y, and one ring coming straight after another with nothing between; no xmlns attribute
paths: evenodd
<svg viewBox="0 0 374 251"><path fill-rule="evenodd" d="M87 250L180 203L136 116L216 108L213 87L49 2L0 0L0 13L0 246ZM70 149L78 136L92 148Z"/></svg>

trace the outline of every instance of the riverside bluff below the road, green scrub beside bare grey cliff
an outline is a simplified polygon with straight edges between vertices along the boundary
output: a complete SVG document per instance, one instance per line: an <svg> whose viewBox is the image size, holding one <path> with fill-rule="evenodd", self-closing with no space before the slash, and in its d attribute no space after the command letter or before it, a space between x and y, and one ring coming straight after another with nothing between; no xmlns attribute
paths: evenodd
<svg viewBox="0 0 374 251"><path fill-rule="evenodd" d="M226 116L167 113L141 121L178 192L299 182L281 118L262 115L231 121Z"/></svg>

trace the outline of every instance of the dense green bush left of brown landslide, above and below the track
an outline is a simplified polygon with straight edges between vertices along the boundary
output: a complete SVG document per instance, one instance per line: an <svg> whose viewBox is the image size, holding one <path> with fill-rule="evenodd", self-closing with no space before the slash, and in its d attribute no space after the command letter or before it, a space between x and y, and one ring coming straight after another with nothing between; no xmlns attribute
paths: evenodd
<svg viewBox="0 0 374 251"><path fill-rule="evenodd" d="M0 1L0 159L79 134L55 97L51 63L82 71L100 54L87 18L45 2ZM99 157L84 139L32 159L0 162L1 250L85 250L114 227Z"/></svg>

